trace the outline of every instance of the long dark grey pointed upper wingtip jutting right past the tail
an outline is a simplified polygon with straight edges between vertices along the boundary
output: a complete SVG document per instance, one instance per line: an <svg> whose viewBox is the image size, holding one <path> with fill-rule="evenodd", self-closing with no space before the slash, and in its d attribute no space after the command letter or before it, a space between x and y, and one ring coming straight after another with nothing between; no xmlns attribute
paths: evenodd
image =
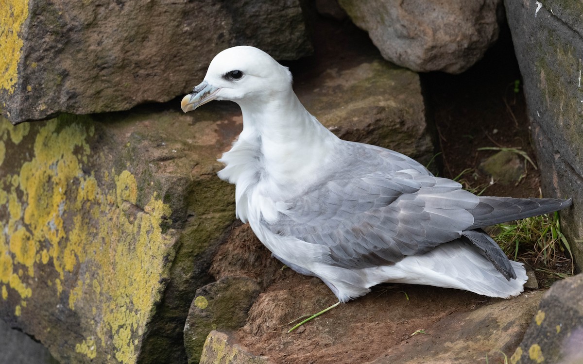
<svg viewBox="0 0 583 364"><path fill-rule="evenodd" d="M515 199L514 197L480 196L480 203L469 210L474 224L468 229L482 228L502 222L552 213L571 206L571 199Z"/></svg>

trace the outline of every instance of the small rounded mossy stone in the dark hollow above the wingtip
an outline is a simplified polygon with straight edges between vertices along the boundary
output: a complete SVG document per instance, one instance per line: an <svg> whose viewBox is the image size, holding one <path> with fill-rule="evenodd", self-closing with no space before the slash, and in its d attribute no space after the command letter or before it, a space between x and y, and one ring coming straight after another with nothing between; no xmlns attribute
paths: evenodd
<svg viewBox="0 0 583 364"><path fill-rule="evenodd" d="M480 169L503 185L514 185L524 177L524 164L518 154L501 150L480 163Z"/></svg>

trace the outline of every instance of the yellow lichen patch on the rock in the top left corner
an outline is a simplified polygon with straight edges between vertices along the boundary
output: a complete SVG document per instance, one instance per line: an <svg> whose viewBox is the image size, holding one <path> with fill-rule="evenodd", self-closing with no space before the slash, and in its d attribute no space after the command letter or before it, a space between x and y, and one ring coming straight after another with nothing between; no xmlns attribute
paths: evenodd
<svg viewBox="0 0 583 364"><path fill-rule="evenodd" d="M0 89L14 92L14 87L18 79L18 62L20 61L20 51L24 41L20 37L22 24L29 16L29 2L12 1L2 2L0 6L0 44L2 44L2 54L0 57Z"/></svg>

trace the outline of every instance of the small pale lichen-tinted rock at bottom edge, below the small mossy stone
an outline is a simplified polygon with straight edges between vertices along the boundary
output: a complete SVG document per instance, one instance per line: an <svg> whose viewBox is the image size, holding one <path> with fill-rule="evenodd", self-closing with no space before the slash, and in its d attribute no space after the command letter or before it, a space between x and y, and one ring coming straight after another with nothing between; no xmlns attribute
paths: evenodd
<svg viewBox="0 0 583 364"><path fill-rule="evenodd" d="M205 341L201 364L269 364L266 359L251 355L231 342L229 334L211 331Z"/></svg>

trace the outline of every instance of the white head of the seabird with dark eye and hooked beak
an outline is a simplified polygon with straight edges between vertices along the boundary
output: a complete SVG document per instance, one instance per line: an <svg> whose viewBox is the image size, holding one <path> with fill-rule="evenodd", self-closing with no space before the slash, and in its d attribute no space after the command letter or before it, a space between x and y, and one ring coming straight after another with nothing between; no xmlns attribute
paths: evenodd
<svg viewBox="0 0 583 364"><path fill-rule="evenodd" d="M182 111L192 111L212 100L237 104L266 101L291 90L291 73L255 47L227 48L210 62L205 79L182 98Z"/></svg>

